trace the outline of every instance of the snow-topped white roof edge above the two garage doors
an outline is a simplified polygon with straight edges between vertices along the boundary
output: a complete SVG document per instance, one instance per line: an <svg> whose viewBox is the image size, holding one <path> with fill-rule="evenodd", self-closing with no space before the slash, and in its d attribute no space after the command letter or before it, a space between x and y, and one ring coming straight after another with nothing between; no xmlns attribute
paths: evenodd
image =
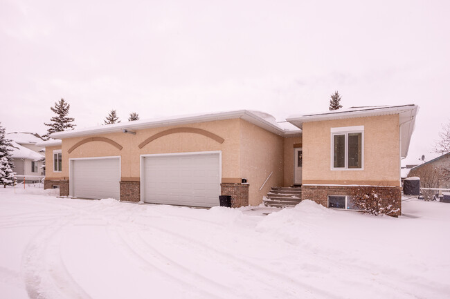
<svg viewBox="0 0 450 299"><path fill-rule="evenodd" d="M116 133L123 130L140 130L143 128L157 128L161 126L174 126L181 124L193 124L196 122L213 122L224 119L244 119L255 126L260 126L265 130L277 135L285 135L283 129L277 122L275 117L267 113L255 110L235 110L219 113L197 113L191 115L179 115L171 117L159 117L154 119L141 119L133 122L120 122L118 124L107 124L101 126L93 126L91 128L77 128L71 131L57 132L51 135L52 138L64 139L69 137L95 135L102 133ZM301 133L297 128L297 133Z"/></svg>

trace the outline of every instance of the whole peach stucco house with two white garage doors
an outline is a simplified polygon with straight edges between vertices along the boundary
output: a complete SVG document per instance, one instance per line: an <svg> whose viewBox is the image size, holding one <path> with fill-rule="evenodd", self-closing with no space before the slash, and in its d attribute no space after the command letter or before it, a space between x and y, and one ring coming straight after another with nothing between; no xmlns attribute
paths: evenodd
<svg viewBox="0 0 450 299"><path fill-rule="evenodd" d="M273 186L302 186L324 206L359 185L394 190L417 106L359 107L289 117L238 110L53 133L45 188L130 202L258 205ZM243 180L245 179L245 180ZM343 195L339 197L339 195ZM396 197L397 198L397 197Z"/></svg>

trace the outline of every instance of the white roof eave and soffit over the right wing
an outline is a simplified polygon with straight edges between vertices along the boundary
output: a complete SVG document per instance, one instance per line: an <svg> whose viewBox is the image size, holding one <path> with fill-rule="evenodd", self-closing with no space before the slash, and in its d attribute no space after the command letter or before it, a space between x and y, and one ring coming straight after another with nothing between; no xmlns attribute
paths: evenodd
<svg viewBox="0 0 450 299"><path fill-rule="evenodd" d="M303 115L291 115L287 117L287 121L298 128L303 128L305 122L319 122L331 119L345 119L354 117L368 117L378 115L399 115L399 124L401 126L401 157L408 155L411 135L413 135L415 116L417 115L418 106L414 104L399 106L361 106L342 108L338 110L328 110L319 113L309 113Z"/></svg>

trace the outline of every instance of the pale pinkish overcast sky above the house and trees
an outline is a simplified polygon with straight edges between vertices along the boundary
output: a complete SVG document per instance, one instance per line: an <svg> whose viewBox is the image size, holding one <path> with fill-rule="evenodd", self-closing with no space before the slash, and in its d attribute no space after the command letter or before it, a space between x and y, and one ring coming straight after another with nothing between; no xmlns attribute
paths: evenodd
<svg viewBox="0 0 450 299"><path fill-rule="evenodd" d="M418 104L408 158L450 120L450 1L0 0L0 122L44 134L64 97L78 127L251 108L278 120Z"/></svg>

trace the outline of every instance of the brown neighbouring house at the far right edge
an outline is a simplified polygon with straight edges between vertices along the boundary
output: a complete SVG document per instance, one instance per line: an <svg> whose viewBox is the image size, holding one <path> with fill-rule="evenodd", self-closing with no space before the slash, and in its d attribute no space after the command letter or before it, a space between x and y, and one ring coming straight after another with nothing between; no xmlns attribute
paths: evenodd
<svg viewBox="0 0 450 299"><path fill-rule="evenodd" d="M423 188L450 188L450 153L411 168L408 177L420 177Z"/></svg>

